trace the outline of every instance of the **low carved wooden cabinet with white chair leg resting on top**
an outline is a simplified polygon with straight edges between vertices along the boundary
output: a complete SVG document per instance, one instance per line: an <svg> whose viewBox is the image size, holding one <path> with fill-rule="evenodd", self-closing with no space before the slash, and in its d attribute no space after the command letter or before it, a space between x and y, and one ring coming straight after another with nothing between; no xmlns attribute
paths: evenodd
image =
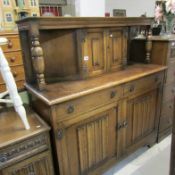
<svg viewBox="0 0 175 175"><path fill-rule="evenodd" d="M30 130L13 108L0 109L0 174L54 175L50 128L26 107Z"/></svg>

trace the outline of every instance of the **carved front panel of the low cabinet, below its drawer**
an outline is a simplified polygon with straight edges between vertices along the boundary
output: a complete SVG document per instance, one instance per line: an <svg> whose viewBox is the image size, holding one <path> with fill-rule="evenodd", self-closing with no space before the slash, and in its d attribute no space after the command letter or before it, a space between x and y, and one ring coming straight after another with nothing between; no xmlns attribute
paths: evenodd
<svg viewBox="0 0 175 175"><path fill-rule="evenodd" d="M2 170L2 175L54 175L50 152L38 154L12 165Z"/></svg>

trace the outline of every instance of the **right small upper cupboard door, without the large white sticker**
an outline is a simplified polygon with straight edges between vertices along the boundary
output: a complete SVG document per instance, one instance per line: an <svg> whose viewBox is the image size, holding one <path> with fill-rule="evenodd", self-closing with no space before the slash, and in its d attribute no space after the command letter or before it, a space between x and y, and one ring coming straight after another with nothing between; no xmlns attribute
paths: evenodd
<svg viewBox="0 0 175 175"><path fill-rule="evenodd" d="M115 71L127 62L127 35L124 29L107 32L107 60L109 71Z"/></svg>

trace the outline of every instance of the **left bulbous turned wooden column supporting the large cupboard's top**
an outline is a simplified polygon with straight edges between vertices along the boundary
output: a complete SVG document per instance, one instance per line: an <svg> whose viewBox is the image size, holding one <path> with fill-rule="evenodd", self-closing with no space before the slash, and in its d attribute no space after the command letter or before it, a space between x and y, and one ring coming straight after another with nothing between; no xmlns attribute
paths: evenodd
<svg viewBox="0 0 175 175"><path fill-rule="evenodd" d="M37 77L37 86L39 90L44 90L46 85L44 78L45 64L43 58L43 49L39 42L39 30L37 28L37 25L32 25L30 32L32 42L31 55L34 71Z"/></svg>

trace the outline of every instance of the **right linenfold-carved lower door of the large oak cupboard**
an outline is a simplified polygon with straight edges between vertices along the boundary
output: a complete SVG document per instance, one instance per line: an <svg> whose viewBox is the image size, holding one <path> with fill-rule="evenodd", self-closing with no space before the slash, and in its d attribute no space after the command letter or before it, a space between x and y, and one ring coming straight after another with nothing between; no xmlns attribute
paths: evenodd
<svg viewBox="0 0 175 175"><path fill-rule="evenodd" d="M156 129L157 90L127 101L126 146L129 147Z"/></svg>

